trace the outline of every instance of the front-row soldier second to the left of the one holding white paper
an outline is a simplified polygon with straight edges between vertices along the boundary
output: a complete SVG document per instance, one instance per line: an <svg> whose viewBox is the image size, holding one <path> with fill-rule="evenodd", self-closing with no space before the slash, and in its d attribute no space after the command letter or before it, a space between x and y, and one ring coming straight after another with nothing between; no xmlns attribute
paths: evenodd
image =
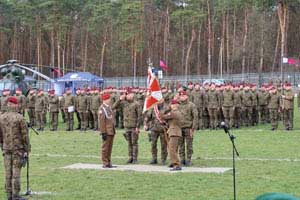
<svg viewBox="0 0 300 200"><path fill-rule="evenodd" d="M35 107L36 122L37 122L37 125L39 126L38 130L44 131L44 127L45 127L44 115L47 110L47 104L45 102L43 90L39 90L38 96L36 97L36 100L35 100L34 107Z"/></svg>

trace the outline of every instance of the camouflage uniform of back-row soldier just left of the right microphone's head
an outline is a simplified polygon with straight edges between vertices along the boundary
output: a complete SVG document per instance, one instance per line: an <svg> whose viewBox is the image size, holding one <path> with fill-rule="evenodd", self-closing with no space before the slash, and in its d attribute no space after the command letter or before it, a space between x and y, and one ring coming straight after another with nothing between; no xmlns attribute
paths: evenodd
<svg viewBox="0 0 300 200"><path fill-rule="evenodd" d="M207 95L207 107L210 120L210 128L216 129L218 126L219 95L216 90L209 90Z"/></svg>

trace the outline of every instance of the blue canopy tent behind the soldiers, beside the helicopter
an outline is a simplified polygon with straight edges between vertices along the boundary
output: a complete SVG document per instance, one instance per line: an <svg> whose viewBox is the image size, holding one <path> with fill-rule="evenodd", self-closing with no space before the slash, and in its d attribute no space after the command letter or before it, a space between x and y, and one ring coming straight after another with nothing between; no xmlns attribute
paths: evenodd
<svg viewBox="0 0 300 200"><path fill-rule="evenodd" d="M104 79L89 72L71 72L55 79L54 89L57 95L61 95L66 87L71 87L73 93L76 88L102 87Z"/></svg>

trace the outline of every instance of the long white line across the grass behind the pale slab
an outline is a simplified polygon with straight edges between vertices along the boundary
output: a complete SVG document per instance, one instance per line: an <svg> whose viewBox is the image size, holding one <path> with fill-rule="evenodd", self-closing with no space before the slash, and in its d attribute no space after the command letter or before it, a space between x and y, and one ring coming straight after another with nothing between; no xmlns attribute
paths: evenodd
<svg viewBox="0 0 300 200"><path fill-rule="evenodd" d="M70 157L70 158L97 158L97 155L70 155L70 154L31 154L37 157ZM112 159L127 159L126 156L113 156ZM151 157L139 157L140 159L151 159ZM199 160L232 160L231 157L196 157ZM237 158L240 161L274 161L274 162L300 162L299 158Z"/></svg>

